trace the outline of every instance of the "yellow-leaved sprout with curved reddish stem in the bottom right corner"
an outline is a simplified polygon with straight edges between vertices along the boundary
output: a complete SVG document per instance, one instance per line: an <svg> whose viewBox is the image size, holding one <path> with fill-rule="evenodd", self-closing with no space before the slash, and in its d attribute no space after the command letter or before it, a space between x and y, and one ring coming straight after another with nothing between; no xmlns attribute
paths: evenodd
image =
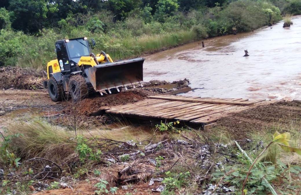
<svg viewBox="0 0 301 195"><path fill-rule="evenodd" d="M296 152L297 154L301 155L301 148L295 148L295 147L291 147L289 145L289 141L290 141L290 133L286 132L286 133L279 133L278 131L276 131L276 133L273 135L273 140L272 142L270 142L264 149L263 151L256 157L256 159L253 161L252 165L250 166L248 172L247 172L247 177L244 180L242 189L241 189L241 194L242 195L246 195L247 194L247 189L244 189L249 175L251 173L251 170L253 168L253 166L255 165L256 161L262 156L262 154L268 149L268 147L270 147L273 143L277 143L284 151L286 152ZM274 190L273 190L274 191ZM275 194L275 192L272 192L272 194Z"/></svg>

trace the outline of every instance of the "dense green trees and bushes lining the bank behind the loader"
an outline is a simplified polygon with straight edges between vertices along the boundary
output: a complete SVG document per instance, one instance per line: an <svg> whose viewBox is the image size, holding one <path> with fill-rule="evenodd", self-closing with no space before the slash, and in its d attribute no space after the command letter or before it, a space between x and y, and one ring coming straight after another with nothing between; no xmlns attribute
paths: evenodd
<svg viewBox="0 0 301 195"><path fill-rule="evenodd" d="M93 37L113 59L250 31L300 14L301 0L2 0L0 66L45 67L54 42ZM276 5L276 6L275 6ZM279 8L278 8L278 7Z"/></svg>

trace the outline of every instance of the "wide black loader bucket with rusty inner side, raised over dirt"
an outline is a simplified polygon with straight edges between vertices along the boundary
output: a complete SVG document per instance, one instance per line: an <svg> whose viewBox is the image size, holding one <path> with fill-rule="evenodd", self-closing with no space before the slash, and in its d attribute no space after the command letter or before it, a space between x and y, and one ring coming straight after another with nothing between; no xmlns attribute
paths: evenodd
<svg viewBox="0 0 301 195"><path fill-rule="evenodd" d="M143 81L143 58L105 63L86 71L96 91L111 89Z"/></svg>

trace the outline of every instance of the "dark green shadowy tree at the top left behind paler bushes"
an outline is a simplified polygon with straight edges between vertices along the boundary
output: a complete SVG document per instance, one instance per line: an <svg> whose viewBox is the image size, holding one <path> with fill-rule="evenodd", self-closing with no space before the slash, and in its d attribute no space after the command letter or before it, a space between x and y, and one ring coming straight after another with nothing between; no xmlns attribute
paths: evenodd
<svg viewBox="0 0 301 195"><path fill-rule="evenodd" d="M10 0L8 8L14 29L35 33L43 28L48 12L45 0Z"/></svg>

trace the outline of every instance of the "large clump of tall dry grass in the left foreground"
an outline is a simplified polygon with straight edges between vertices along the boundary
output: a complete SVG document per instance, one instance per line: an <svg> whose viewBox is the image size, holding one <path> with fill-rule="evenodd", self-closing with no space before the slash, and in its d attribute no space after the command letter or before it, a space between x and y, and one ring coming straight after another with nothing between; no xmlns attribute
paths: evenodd
<svg viewBox="0 0 301 195"><path fill-rule="evenodd" d="M75 142L70 140L74 134L58 126L52 126L44 120L12 123L8 126L8 132L22 134L11 143L18 157L60 159L59 157L65 157L74 151Z"/></svg>

